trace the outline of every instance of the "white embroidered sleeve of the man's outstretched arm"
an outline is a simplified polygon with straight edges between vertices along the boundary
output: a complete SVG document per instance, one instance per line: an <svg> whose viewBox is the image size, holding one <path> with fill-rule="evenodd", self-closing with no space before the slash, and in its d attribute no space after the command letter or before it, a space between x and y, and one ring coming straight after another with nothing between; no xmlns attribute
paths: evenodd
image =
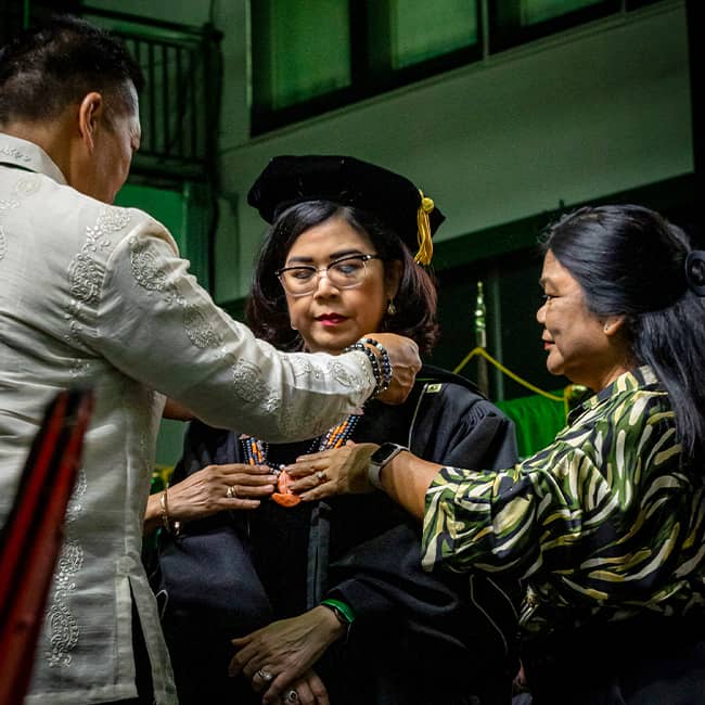
<svg viewBox="0 0 705 705"><path fill-rule="evenodd" d="M374 387L364 354L284 354L218 308L166 231L140 223L106 262L90 345L202 421L266 440L310 438Z"/></svg>

